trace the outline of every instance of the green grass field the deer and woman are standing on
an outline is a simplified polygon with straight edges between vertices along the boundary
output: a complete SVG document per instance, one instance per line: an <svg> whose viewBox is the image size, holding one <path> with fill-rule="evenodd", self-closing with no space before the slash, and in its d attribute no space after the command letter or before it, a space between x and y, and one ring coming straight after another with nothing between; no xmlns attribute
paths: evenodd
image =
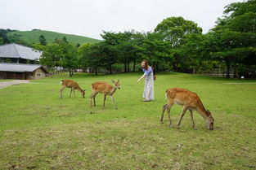
<svg viewBox="0 0 256 170"><path fill-rule="evenodd" d="M87 89L86 97L59 98L55 76L0 89L1 169L255 169L256 81L228 80L181 73L162 73L155 81L155 101L141 102L144 83L139 73L72 79ZM115 105L97 95L90 109L93 81L120 79ZM212 111L215 129L209 131L199 114L191 129L188 114L181 129L160 124L168 88L197 93ZM177 124L182 107L171 111Z"/></svg>

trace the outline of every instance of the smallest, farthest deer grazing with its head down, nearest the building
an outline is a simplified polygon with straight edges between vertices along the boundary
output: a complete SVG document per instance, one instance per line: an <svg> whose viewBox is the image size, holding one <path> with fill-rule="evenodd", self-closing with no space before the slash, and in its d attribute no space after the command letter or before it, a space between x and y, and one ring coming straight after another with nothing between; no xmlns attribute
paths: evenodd
<svg viewBox="0 0 256 170"><path fill-rule="evenodd" d="M74 93L74 89L78 89L79 92L81 92L81 94L82 94L82 96L83 96L83 98L84 98L85 89L84 89L84 90L81 89L81 88L79 87L79 84L78 84L77 82L71 81L71 80L64 80L64 81L61 81L60 84L62 85L62 88L61 88L61 90L60 90L60 93L61 93L60 98L62 98L62 91L63 91L63 89L65 89L66 87L67 87L67 88L71 88L70 97L71 97L72 91L73 91L73 93ZM75 94L74 94L74 97L75 97Z"/></svg>

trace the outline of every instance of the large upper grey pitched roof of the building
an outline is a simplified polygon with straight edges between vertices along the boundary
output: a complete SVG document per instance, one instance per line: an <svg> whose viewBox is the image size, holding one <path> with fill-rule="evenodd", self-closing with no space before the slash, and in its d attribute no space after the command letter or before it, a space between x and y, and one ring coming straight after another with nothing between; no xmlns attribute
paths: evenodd
<svg viewBox="0 0 256 170"><path fill-rule="evenodd" d="M42 51L35 51L28 46L21 46L18 44L7 44L0 46L0 58L21 58L35 60L39 59Z"/></svg>

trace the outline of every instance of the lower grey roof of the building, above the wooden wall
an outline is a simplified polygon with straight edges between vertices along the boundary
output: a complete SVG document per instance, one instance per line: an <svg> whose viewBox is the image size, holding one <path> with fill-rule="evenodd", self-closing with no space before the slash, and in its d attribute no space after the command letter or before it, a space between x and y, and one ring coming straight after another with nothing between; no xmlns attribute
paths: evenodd
<svg viewBox="0 0 256 170"><path fill-rule="evenodd" d="M25 63L0 63L0 72L34 72L36 69L42 68L38 64L25 64Z"/></svg>

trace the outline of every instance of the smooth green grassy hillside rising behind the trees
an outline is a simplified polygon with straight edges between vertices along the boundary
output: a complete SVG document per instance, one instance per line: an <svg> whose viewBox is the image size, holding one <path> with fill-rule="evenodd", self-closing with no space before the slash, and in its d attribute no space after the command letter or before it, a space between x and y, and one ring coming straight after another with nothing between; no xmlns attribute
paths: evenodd
<svg viewBox="0 0 256 170"><path fill-rule="evenodd" d="M83 37L83 36L77 36L72 34L65 34L65 33L56 33L51 31L43 31L43 30L34 30L34 31L15 31L15 32L9 32L7 33L7 37L9 39L21 39L23 41L26 41L29 44L32 43L39 43L39 36L43 35L47 43L52 43L56 38L62 39L62 37L66 37L67 41L69 41L74 46L79 43L82 45L86 42L97 42L100 40L93 39L90 37Z"/></svg>

